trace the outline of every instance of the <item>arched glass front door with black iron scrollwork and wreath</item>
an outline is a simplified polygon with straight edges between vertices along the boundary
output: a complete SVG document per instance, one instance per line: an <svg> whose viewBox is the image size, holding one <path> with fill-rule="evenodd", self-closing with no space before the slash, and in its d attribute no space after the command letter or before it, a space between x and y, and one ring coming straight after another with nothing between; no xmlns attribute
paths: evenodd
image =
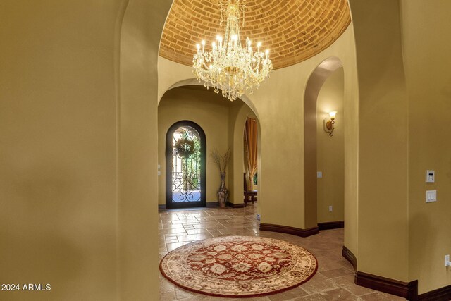
<svg viewBox="0 0 451 301"><path fill-rule="evenodd" d="M166 208L206 206L206 138L192 121L166 133Z"/></svg>

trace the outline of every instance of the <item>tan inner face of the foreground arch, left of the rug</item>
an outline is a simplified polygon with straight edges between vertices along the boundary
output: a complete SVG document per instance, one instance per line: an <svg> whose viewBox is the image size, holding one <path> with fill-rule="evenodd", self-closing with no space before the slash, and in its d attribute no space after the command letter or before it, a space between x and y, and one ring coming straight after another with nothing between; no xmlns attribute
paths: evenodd
<svg viewBox="0 0 451 301"><path fill-rule="evenodd" d="M125 4L117 49L121 67L118 297L158 300L157 58L171 1L129 0Z"/></svg>

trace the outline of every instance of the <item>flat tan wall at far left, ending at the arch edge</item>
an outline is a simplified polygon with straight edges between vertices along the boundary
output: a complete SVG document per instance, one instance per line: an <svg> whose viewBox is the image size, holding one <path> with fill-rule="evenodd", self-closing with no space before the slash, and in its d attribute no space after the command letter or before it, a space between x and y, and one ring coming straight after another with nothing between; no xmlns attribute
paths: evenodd
<svg viewBox="0 0 451 301"><path fill-rule="evenodd" d="M114 300L121 1L2 1L2 300ZM118 33L118 32L117 32Z"/></svg>

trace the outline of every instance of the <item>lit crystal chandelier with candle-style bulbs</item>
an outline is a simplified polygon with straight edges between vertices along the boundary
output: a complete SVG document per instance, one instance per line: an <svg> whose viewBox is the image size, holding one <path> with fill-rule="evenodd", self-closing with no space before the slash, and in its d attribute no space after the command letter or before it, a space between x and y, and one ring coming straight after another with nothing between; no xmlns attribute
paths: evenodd
<svg viewBox="0 0 451 301"><path fill-rule="evenodd" d="M246 39L246 46L241 46L238 20L242 13L244 25L246 0L220 0L219 8L221 26L224 16L227 18L224 40L220 35L216 36L216 42L211 43L211 51L205 50L205 41L197 44L192 67L197 80L204 81L207 89L211 86L216 93L221 89L223 97L233 101L245 90L252 93L257 89L273 69L273 63L268 50L265 53L260 51L261 42L257 43L256 52L252 51L249 38Z"/></svg>

